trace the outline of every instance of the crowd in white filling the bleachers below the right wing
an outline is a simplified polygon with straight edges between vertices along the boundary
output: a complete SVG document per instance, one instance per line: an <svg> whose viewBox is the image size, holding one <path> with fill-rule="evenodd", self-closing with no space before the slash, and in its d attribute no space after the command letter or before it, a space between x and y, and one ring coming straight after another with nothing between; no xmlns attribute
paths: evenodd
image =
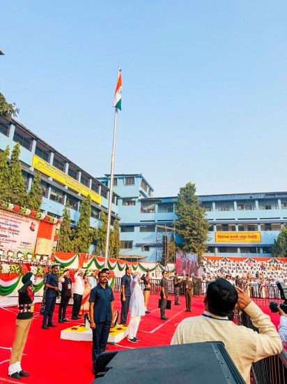
<svg viewBox="0 0 287 384"><path fill-rule="evenodd" d="M205 293L210 281L223 277L234 286L239 286L250 297L279 299L276 281L287 284L287 263L255 260L203 260L201 290Z"/></svg>

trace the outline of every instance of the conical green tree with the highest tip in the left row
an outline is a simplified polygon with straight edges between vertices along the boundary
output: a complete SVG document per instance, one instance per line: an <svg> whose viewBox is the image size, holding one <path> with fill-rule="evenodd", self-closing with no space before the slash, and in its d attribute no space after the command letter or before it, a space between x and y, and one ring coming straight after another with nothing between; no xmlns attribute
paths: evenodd
<svg viewBox="0 0 287 384"><path fill-rule="evenodd" d="M26 207L28 193L22 175L19 142L14 146L11 153L4 184L3 200L20 205L20 207Z"/></svg>

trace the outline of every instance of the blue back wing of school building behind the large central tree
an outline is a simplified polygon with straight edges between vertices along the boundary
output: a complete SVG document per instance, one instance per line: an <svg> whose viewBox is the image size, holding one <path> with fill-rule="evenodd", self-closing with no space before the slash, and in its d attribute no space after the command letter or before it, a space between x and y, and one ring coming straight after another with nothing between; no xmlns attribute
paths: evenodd
<svg viewBox="0 0 287 384"><path fill-rule="evenodd" d="M100 178L109 185L109 175ZM152 187L142 175L115 175L119 195L121 252L158 261L162 236L181 239L173 231L177 197L153 198ZM287 223L287 192L234 193L199 196L210 223L208 255L272 256L274 239Z"/></svg>

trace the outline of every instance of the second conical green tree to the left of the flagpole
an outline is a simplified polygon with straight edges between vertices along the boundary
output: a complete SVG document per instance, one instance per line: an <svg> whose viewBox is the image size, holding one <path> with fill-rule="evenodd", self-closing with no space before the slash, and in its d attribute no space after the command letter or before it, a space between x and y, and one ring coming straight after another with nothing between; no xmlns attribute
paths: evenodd
<svg viewBox="0 0 287 384"><path fill-rule="evenodd" d="M91 218L91 196L88 195L82 200L79 207L79 220L73 231L72 248L75 252L88 253L93 237L93 230L90 226Z"/></svg>

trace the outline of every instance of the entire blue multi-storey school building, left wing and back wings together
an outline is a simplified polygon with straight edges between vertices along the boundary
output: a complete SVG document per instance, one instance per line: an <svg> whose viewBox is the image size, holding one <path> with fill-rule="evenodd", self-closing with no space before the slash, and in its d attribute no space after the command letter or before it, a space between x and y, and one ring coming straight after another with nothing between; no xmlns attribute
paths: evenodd
<svg viewBox="0 0 287 384"><path fill-rule="evenodd" d="M90 194L91 226L98 227L100 212L108 208L109 175L89 175L20 122L0 118L0 150L12 150L16 142L27 189L40 172L42 212L60 218L68 200L75 225L83 196ZM173 228L177 196L155 198L153 193L141 174L114 175L111 220L120 221L121 258L156 263L162 257L163 235L181 244ZM207 254L272 256L274 239L287 223L287 192L201 195L199 200L210 223Z"/></svg>

